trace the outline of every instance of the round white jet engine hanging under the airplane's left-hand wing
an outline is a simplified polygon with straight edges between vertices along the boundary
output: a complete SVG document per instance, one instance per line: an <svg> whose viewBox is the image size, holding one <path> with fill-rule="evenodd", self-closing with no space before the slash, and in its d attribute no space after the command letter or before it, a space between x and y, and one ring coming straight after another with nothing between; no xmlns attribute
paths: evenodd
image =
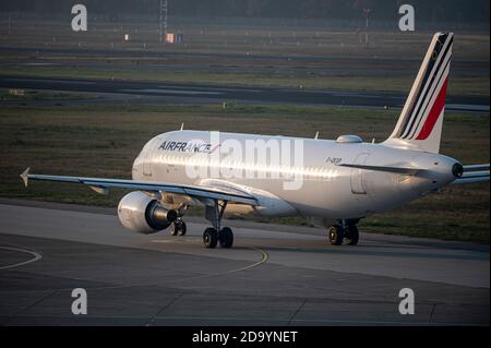
<svg viewBox="0 0 491 348"><path fill-rule="evenodd" d="M169 227L178 218L178 213L165 209L157 200L141 191L134 191L119 202L118 217L125 228L148 235Z"/></svg>

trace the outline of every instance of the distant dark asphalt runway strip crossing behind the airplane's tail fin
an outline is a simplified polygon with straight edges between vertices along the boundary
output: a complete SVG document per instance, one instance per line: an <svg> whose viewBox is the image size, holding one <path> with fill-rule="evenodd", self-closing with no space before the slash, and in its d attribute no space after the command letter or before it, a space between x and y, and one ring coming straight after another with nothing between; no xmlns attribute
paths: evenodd
<svg viewBox="0 0 491 348"><path fill-rule="evenodd" d="M295 104L337 107L402 108L406 95L368 92L336 92L277 87L211 86L159 82L130 82L91 79L0 76L0 88L92 93L84 100L2 101L2 104ZM447 110L489 111L489 97L448 96Z"/></svg>

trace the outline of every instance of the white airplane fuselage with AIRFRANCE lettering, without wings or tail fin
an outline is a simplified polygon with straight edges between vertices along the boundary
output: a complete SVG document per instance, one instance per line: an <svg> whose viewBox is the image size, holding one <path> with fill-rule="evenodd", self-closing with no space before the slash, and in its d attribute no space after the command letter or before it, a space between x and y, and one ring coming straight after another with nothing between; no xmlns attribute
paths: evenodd
<svg viewBox="0 0 491 348"><path fill-rule="evenodd" d="M230 156L232 149L242 154ZM412 176L340 164L424 172ZM443 155L383 144L176 131L148 141L132 173L134 180L223 184L252 193L263 197L264 206L256 208L263 215L350 219L400 206L448 184L455 180L455 164Z"/></svg>

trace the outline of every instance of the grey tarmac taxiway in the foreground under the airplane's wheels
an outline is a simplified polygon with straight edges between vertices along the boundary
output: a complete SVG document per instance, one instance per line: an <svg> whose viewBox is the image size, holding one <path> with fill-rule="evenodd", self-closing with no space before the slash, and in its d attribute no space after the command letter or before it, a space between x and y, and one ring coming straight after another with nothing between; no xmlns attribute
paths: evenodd
<svg viewBox="0 0 491 348"><path fill-rule="evenodd" d="M230 250L141 236L112 209L0 202L2 325L489 325L489 245L227 220ZM87 291L87 315L71 291ZM398 312L415 291L416 313Z"/></svg>

